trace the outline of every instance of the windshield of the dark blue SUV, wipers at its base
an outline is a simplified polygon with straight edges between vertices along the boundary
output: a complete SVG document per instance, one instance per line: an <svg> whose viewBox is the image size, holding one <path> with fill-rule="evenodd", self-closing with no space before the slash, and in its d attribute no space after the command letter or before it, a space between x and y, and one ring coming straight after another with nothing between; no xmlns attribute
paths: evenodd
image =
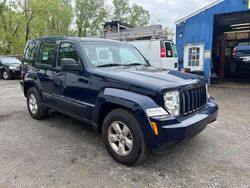
<svg viewBox="0 0 250 188"><path fill-rule="evenodd" d="M112 42L83 42L82 49L95 67L149 66L145 58L131 45Z"/></svg>

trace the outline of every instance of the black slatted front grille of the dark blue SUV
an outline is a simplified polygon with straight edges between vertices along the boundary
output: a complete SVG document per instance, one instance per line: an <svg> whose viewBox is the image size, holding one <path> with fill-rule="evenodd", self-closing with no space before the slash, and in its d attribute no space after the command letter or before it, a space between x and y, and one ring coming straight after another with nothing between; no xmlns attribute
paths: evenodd
<svg viewBox="0 0 250 188"><path fill-rule="evenodd" d="M207 103L206 86L181 91L181 115L195 112Z"/></svg>

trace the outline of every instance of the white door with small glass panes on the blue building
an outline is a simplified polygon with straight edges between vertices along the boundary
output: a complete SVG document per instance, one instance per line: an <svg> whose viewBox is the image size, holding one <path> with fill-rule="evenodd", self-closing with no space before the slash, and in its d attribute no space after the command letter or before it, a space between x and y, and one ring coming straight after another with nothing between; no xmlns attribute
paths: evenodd
<svg viewBox="0 0 250 188"><path fill-rule="evenodd" d="M184 68L204 70L204 45L187 45L184 48Z"/></svg>

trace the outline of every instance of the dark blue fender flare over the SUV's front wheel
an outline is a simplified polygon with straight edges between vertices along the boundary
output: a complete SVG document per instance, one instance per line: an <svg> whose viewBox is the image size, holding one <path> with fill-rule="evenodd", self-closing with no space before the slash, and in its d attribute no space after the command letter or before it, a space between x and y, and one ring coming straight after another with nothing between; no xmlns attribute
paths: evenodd
<svg viewBox="0 0 250 188"><path fill-rule="evenodd" d="M149 108L157 108L159 105L157 105L150 97L127 90L105 88L99 93L93 111L92 120L96 125L98 125L102 105L105 103L119 105L134 112L144 132L147 145L150 147L155 147L157 145L157 137L153 134L150 119L147 116L146 110Z"/></svg>

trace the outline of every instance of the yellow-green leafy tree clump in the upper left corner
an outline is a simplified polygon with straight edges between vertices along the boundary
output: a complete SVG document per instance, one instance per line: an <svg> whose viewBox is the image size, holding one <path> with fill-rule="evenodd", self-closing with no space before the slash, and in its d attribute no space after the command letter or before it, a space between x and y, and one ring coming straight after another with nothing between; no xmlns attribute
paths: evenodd
<svg viewBox="0 0 250 188"><path fill-rule="evenodd" d="M44 35L68 35L70 0L0 1L0 54L23 53L25 42Z"/></svg>

